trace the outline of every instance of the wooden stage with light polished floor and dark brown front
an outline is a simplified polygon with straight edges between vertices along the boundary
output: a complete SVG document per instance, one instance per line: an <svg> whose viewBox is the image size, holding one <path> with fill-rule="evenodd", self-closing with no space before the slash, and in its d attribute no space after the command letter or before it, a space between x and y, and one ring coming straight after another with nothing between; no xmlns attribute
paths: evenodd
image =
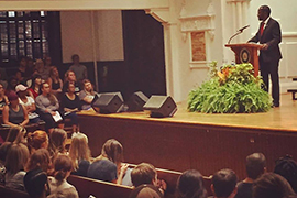
<svg viewBox="0 0 297 198"><path fill-rule="evenodd" d="M79 113L80 131L89 136L92 155L107 139L124 146L125 161L148 162L173 170L197 168L204 175L229 167L244 177L245 156L262 152L268 170L285 154L297 157L297 100L280 97L280 107L266 113L206 114L188 112L177 103L173 118L154 119L147 112Z"/></svg>

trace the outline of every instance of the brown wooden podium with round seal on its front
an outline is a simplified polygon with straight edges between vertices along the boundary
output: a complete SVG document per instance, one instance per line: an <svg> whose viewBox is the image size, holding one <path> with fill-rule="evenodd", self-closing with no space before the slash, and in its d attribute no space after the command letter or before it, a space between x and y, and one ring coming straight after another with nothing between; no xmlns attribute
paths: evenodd
<svg viewBox="0 0 297 198"><path fill-rule="evenodd" d="M239 43L239 44L226 44L235 53L237 64L251 63L254 66L254 76L258 75L258 57L257 50L261 48L256 43Z"/></svg>

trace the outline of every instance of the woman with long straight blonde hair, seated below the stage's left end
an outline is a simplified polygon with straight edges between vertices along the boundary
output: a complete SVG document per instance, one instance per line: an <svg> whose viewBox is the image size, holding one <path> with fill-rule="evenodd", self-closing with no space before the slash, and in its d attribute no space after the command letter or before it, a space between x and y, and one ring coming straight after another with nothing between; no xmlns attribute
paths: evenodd
<svg viewBox="0 0 297 198"><path fill-rule="evenodd" d="M73 134L69 157L74 164L72 174L87 177L91 158L87 135L79 132Z"/></svg>

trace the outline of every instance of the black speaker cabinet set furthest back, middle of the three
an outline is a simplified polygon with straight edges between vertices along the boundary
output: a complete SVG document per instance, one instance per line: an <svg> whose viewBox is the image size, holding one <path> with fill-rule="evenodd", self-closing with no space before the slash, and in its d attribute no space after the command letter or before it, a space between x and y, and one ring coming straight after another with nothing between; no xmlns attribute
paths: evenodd
<svg viewBox="0 0 297 198"><path fill-rule="evenodd" d="M143 111L143 106L147 102L148 98L142 92L134 92L127 101L128 111Z"/></svg>

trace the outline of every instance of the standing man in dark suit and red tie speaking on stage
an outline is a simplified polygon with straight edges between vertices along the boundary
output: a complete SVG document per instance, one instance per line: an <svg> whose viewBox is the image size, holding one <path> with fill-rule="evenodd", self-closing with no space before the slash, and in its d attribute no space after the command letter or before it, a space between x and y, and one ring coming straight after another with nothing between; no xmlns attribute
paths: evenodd
<svg viewBox="0 0 297 198"><path fill-rule="evenodd" d="M257 18L261 21L258 31L249 42L262 44L260 50L260 70L265 90L270 90L270 77L272 79L272 97L274 107L279 107L279 77L278 65L282 59L282 53L278 44L282 42L280 26L277 21L271 18L271 9L262 6L257 10Z"/></svg>

